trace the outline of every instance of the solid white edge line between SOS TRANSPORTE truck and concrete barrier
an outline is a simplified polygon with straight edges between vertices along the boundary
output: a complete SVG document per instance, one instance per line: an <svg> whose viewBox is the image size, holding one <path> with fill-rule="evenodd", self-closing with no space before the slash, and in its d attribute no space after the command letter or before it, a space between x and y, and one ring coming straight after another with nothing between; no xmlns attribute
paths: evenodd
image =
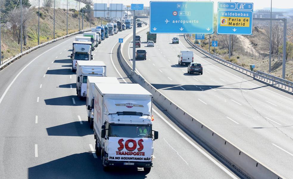
<svg viewBox="0 0 293 179"><path fill-rule="evenodd" d="M179 130L177 130L172 124L170 124L163 116L160 115L160 113L158 113L154 108L152 108L152 111L154 111L161 119L163 119L163 121L165 121L173 130L175 130L181 137L183 137L186 141L189 142L189 144L191 144L194 148L196 148L200 153L202 153L202 155L204 155L205 157L207 157L209 160L211 160L214 164L216 164L220 169L222 169L224 172L226 172L230 177L232 177L233 179L237 179L236 176L234 176L231 172L229 172L224 166L222 166L221 164L219 164L219 162L217 162L215 159L213 159L210 155L208 155L205 151L203 151L200 147L198 147L197 145L195 145L189 138L187 138L186 136L183 135L183 133L181 133Z"/></svg>

